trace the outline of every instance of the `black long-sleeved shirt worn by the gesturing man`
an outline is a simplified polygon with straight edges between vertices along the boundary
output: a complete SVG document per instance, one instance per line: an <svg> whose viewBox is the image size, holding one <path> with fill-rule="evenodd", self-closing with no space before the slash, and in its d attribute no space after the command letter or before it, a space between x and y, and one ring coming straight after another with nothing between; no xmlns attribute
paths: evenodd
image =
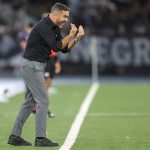
<svg viewBox="0 0 150 150"><path fill-rule="evenodd" d="M37 23L29 35L24 58L31 61L47 62L51 49L55 52L68 52L67 47L62 47L60 28L48 17Z"/></svg>

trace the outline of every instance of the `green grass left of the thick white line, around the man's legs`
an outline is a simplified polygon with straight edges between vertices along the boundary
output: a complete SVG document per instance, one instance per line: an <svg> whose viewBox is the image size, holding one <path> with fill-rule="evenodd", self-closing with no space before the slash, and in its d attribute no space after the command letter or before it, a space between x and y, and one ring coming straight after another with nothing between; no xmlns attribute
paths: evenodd
<svg viewBox="0 0 150 150"><path fill-rule="evenodd" d="M58 94L52 95L50 101L52 110L56 117L48 119L47 137L57 141L60 145L68 133L71 123L74 120L79 106L81 105L90 85L69 85L58 86ZM14 147L7 145L8 136L11 132L17 112L24 98L23 94L17 95L10 99L10 103L0 104L0 150L32 150L35 147ZM34 144L34 115L32 114L27 120L22 137ZM45 148L49 149L49 148ZM59 149L59 148L53 148Z"/></svg>

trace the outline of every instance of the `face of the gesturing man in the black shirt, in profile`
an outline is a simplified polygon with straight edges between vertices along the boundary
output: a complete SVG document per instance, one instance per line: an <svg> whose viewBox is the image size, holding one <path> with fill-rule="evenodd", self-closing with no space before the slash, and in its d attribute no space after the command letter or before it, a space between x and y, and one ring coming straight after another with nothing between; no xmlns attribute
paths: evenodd
<svg viewBox="0 0 150 150"><path fill-rule="evenodd" d="M63 28L64 24L68 21L68 17L69 17L69 11L62 10L61 12L58 12L56 17L56 24L60 28Z"/></svg>

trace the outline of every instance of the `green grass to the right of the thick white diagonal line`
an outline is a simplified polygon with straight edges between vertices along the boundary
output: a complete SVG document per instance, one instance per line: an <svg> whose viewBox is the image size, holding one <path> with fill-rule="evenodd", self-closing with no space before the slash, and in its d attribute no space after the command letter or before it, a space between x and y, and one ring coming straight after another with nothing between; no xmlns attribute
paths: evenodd
<svg viewBox="0 0 150 150"><path fill-rule="evenodd" d="M101 85L72 150L149 150L150 116L116 115L150 113L149 91L148 84Z"/></svg>

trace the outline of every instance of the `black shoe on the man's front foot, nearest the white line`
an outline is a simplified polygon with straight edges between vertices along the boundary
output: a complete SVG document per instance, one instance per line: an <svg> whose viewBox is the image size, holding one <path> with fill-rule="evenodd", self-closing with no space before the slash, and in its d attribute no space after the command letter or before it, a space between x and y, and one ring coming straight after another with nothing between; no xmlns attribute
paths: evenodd
<svg viewBox="0 0 150 150"><path fill-rule="evenodd" d="M35 139L35 147L54 147L59 146L58 143L54 143L51 140L47 139L46 137L39 139Z"/></svg>

